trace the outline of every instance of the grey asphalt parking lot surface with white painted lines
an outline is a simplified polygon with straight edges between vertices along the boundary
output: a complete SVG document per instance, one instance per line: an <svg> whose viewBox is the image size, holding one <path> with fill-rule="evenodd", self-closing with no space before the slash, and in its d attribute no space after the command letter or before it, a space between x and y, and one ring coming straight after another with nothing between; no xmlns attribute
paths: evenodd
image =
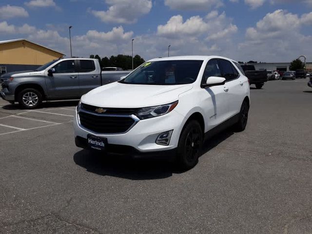
<svg viewBox="0 0 312 234"><path fill-rule="evenodd" d="M274 80L251 101L247 129L181 173L77 148L77 101L0 100L0 233L312 233L312 89Z"/></svg>

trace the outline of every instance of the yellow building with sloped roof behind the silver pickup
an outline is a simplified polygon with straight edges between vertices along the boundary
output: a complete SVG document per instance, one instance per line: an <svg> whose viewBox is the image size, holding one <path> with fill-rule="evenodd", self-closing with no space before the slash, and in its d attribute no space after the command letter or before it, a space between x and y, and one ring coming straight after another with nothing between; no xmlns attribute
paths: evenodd
<svg viewBox="0 0 312 234"><path fill-rule="evenodd" d="M0 41L0 73L34 70L64 54L25 39Z"/></svg>

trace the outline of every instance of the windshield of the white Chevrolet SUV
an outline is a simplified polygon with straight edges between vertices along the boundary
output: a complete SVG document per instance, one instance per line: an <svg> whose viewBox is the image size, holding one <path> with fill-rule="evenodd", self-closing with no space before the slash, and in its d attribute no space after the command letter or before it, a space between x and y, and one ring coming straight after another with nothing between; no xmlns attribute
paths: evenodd
<svg viewBox="0 0 312 234"><path fill-rule="evenodd" d="M203 60L166 60L146 62L120 80L125 84L175 85L193 83Z"/></svg>

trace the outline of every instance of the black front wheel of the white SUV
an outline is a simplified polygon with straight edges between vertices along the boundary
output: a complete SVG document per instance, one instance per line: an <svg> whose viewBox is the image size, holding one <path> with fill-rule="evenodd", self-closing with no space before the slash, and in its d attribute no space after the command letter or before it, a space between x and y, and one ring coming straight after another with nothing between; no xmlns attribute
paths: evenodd
<svg viewBox="0 0 312 234"><path fill-rule="evenodd" d="M200 124L196 120L191 120L184 127L177 147L177 162L180 169L189 170L197 164L202 144L203 134Z"/></svg>

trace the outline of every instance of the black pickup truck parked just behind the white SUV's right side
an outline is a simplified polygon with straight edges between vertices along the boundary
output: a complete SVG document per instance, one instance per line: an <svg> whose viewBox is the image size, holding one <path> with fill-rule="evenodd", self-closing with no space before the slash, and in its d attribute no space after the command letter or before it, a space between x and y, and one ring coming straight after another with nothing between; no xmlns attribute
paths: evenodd
<svg viewBox="0 0 312 234"><path fill-rule="evenodd" d="M254 84L257 89L261 89L265 82L268 81L266 70L255 70L254 65L238 64L249 79L250 84Z"/></svg>

